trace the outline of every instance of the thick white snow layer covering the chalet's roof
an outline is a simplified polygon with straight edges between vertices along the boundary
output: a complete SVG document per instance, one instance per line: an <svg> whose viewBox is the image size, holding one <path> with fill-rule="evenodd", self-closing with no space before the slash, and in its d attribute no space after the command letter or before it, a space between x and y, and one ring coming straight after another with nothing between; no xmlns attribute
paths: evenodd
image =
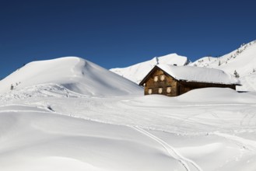
<svg viewBox="0 0 256 171"><path fill-rule="evenodd" d="M174 65L156 66L179 81L240 85L237 78L219 69Z"/></svg>

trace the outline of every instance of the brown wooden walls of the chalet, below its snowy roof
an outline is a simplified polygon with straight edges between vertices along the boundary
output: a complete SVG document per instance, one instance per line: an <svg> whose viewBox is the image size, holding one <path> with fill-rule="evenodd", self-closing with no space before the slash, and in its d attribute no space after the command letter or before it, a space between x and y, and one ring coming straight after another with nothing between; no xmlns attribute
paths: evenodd
<svg viewBox="0 0 256 171"><path fill-rule="evenodd" d="M179 96L192 89L207 87L222 87L236 89L236 85L216 84L210 82L187 82L177 80L173 76L155 66L151 72L139 83L144 86L144 94L163 94L165 96Z"/></svg>

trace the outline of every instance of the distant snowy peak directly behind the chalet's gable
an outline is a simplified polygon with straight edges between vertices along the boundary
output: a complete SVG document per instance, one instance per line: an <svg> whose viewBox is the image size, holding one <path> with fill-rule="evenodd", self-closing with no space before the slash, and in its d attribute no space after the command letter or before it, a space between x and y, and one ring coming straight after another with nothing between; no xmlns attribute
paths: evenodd
<svg viewBox="0 0 256 171"><path fill-rule="evenodd" d="M163 57L155 57L149 61L144 61L127 68L112 68L110 71L139 84L139 82L141 82L149 71L156 65L167 64L181 66L187 65L189 62L190 61L186 57L177 54L167 54Z"/></svg>

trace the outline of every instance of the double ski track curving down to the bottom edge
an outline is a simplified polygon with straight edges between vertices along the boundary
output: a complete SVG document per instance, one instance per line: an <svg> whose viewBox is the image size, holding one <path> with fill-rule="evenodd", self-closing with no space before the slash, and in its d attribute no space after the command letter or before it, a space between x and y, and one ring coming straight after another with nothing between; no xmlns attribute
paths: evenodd
<svg viewBox="0 0 256 171"><path fill-rule="evenodd" d="M153 139L154 141L156 141L160 145L162 145L163 148L167 151L168 155L174 157L174 159L177 159L179 162L181 162L181 164L184 166L184 168L187 171L191 171L191 168L188 166L188 164L191 164L191 166L194 166L194 168L196 170L202 171L200 166L198 166L194 161L191 161L191 159L185 158L183 155L181 155L179 152L177 152L177 150L175 150L174 147L172 147L169 144L167 144L166 141L163 141L162 139L156 137L155 135L149 133L148 131L145 131L144 129L142 129L139 126L134 126L132 128L134 128L136 131L139 131L142 134L145 134L147 137Z"/></svg>

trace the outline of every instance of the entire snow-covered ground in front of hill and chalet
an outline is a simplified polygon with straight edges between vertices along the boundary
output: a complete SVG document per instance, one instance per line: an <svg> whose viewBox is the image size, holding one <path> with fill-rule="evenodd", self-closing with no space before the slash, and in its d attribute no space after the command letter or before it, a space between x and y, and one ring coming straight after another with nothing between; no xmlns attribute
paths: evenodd
<svg viewBox="0 0 256 171"><path fill-rule="evenodd" d="M83 96L61 86L0 95L0 170L256 168L256 94Z"/></svg>

